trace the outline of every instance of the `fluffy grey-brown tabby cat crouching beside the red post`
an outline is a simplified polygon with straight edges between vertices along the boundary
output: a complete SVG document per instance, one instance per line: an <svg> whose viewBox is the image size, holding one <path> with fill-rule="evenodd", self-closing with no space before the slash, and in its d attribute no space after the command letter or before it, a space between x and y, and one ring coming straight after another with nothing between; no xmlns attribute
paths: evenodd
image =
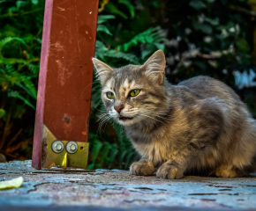
<svg viewBox="0 0 256 211"><path fill-rule="evenodd" d="M93 62L108 115L141 156L131 174L233 178L256 170L256 121L226 84L209 76L169 84L161 50L143 65Z"/></svg>

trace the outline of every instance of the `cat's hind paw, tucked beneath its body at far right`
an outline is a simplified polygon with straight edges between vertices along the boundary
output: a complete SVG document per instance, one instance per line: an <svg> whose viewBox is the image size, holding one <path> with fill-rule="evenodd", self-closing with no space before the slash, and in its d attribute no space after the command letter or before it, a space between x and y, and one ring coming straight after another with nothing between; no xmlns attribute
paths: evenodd
<svg viewBox="0 0 256 211"><path fill-rule="evenodd" d="M241 178L244 172L232 165L221 165L217 168L215 175L219 178Z"/></svg>

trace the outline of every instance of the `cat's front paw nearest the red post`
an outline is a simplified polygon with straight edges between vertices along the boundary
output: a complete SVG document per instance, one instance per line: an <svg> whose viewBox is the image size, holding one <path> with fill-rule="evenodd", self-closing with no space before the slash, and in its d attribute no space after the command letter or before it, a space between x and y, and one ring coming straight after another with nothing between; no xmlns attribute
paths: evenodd
<svg viewBox="0 0 256 211"><path fill-rule="evenodd" d="M156 167L150 161L141 159L139 162L135 162L130 166L130 172L133 175L138 176L150 176L156 171Z"/></svg>

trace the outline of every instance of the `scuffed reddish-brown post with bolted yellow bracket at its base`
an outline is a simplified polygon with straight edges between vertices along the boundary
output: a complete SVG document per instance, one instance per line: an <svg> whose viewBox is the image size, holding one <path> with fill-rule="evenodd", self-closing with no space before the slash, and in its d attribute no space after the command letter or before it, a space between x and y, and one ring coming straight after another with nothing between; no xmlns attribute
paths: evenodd
<svg viewBox="0 0 256 211"><path fill-rule="evenodd" d="M98 0L46 0L32 166L87 168Z"/></svg>

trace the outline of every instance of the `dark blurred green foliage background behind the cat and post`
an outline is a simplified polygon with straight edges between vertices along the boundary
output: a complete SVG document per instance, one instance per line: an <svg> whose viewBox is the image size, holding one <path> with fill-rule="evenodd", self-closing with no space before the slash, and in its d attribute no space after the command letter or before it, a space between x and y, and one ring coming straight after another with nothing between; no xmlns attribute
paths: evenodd
<svg viewBox="0 0 256 211"><path fill-rule="evenodd" d="M43 0L0 0L0 153L30 159L41 54ZM229 84L256 117L255 0L100 0L95 57L113 67L139 64L157 49L178 82L213 76ZM99 124L94 80L89 169L125 169L138 155L113 122Z"/></svg>

